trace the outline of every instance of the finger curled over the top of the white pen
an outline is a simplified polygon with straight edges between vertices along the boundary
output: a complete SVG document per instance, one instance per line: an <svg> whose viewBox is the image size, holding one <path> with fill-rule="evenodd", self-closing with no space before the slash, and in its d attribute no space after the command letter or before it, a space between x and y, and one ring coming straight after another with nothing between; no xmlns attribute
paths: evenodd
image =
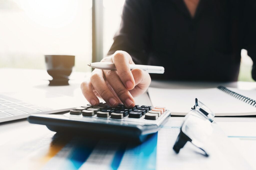
<svg viewBox="0 0 256 170"><path fill-rule="evenodd" d="M131 90L135 86L135 81L130 69L130 63L133 63L131 56L125 51L116 51L112 57L117 73L124 86Z"/></svg>

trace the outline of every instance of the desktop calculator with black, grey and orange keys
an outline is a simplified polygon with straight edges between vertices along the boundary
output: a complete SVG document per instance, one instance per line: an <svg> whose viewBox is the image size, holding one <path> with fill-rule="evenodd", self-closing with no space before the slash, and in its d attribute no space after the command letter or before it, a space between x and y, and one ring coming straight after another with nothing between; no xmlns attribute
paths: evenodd
<svg viewBox="0 0 256 170"><path fill-rule="evenodd" d="M92 138L143 142L167 121L171 113L165 107L139 106L126 108L119 104L87 104L66 114L31 114L28 121L46 125L54 132L80 134Z"/></svg>

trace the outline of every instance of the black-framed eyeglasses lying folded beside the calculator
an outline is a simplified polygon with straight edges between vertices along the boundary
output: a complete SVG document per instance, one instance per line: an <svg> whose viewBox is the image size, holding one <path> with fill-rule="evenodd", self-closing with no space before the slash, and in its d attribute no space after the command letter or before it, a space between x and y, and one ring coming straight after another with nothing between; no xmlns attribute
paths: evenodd
<svg viewBox="0 0 256 170"><path fill-rule="evenodd" d="M205 156L209 156L203 147L204 141L212 134L211 123L214 122L215 114L197 98L195 103L195 106L191 108L192 110L185 116L173 150L179 153L180 149L189 141L202 150Z"/></svg>

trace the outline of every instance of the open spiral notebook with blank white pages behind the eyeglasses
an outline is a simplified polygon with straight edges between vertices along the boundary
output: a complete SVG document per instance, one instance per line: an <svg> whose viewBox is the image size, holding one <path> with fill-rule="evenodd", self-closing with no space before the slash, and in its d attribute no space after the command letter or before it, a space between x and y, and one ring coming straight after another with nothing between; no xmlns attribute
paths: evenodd
<svg viewBox="0 0 256 170"><path fill-rule="evenodd" d="M216 116L256 115L256 90L237 88L163 89L150 87L153 106L168 106L172 115L186 115L195 105L195 98L209 107Z"/></svg>

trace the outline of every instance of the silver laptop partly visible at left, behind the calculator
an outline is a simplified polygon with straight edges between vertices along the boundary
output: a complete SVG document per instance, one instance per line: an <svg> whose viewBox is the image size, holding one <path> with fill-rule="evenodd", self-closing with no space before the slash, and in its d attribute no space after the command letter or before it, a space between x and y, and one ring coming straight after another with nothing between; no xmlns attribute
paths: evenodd
<svg viewBox="0 0 256 170"><path fill-rule="evenodd" d="M0 122L27 118L31 114L51 114L69 111L88 102L80 89L65 93L31 88L24 91L0 93Z"/></svg>

